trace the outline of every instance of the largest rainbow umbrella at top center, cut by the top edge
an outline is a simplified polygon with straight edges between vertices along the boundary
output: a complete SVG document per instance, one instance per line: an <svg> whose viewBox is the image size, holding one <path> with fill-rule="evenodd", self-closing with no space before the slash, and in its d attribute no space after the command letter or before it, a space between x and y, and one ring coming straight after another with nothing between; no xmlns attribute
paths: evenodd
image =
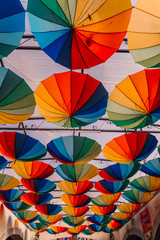
<svg viewBox="0 0 160 240"><path fill-rule="evenodd" d="M51 3L28 1L31 31L41 49L70 69L105 62L120 47L131 14L131 2L118 0Z"/></svg>

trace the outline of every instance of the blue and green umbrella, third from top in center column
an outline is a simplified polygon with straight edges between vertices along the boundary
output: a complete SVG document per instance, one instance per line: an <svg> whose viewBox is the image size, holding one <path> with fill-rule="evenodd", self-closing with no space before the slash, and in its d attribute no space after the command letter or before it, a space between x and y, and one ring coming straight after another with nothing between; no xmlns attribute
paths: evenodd
<svg viewBox="0 0 160 240"><path fill-rule="evenodd" d="M96 158L101 152L101 146L87 137L65 136L49 142L47 150L62 163L79 165Z"/></svg>

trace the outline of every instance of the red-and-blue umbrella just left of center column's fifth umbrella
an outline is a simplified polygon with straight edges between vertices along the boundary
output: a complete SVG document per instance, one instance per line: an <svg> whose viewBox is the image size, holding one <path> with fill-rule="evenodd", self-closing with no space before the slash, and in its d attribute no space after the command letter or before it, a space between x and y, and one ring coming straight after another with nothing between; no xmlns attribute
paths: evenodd
<svg viewBox="0 0 160 240"><path fill-rule="evenodd" d="M56 184L47 179L30 180L22 178L21 183L25 188L33 193L47 193L53 191L56 188Z"/></svg>

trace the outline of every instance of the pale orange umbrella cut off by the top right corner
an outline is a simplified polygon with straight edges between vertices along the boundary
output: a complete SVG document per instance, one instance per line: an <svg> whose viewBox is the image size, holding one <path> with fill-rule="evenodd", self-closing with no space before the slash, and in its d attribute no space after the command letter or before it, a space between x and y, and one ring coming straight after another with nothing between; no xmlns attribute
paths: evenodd
<svg viewBox="0 0 160 240"><path fill-rule="evenodd" d="M133 9L128 28L130 53L135 62L146 68L160 67L160 13L157 9L159 1L139 0Z"/></svg>

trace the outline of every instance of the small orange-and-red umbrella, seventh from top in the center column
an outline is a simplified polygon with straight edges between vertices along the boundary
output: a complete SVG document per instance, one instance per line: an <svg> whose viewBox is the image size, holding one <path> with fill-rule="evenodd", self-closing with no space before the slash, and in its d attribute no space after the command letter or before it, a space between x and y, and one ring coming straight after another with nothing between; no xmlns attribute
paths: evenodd
<svg viewBox="0 0 160 240"><path fill-rule="evenodd" d="M89 207L84 206L84 207L75 208L75 207L67 206L67 207L63 207L62 210L70 216L80 217L89 210Z"/></svg>

